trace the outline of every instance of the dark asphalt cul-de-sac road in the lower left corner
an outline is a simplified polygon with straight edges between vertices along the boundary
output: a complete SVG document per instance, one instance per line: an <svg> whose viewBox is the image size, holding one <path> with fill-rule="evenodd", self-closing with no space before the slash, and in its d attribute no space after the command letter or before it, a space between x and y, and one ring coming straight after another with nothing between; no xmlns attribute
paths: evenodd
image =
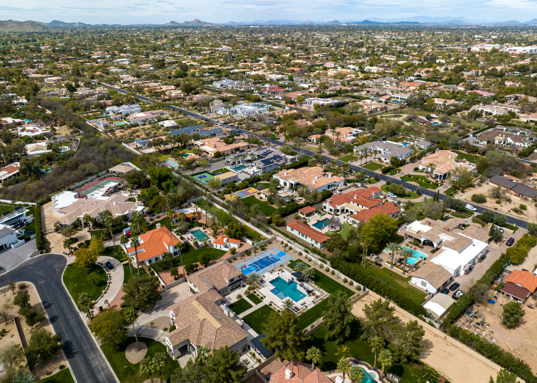
<svg viewBox="0 0 537 383"><path fill-rule="evenodd" d="M115 382L88 326L63 287L66 264L63 255L40 255L0 275L0 286L7 285L10 279L34 284L54 331L62 337L63 351L78 383Z"/></svg>

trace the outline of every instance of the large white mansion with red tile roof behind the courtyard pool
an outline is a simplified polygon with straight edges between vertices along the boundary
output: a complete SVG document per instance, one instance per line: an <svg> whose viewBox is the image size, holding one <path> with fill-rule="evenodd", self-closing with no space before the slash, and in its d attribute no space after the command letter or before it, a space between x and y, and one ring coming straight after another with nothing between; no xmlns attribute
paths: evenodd
<svg viewBox="0 0 537 383"><path fill-rule="evenodd" d="M323 201L323 210L332 214L354 214L362 209L381 206L380 196L382 196L382 190L376 186L333 194L330 199Z"/></svg>

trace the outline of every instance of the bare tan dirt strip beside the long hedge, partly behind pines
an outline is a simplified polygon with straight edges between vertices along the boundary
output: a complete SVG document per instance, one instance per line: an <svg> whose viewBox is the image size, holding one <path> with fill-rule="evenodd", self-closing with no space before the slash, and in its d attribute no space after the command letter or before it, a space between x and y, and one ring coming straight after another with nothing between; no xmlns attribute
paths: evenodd
<svg viewBox="0 0 537 383"><path fill-rule="evenodd" d="M372 295L362 298L354 303L352 313L360 319L365 318L364 305L373 300ZM411 320L409 314L398 307L396 307L396 315L401 319L402 324ZM474 356L466 346L452 343L446 337L439 337L430 326L425 325L424 329L425 347L420 360L433 367L449 381L488 383L489 377L496 377L497 370Z"/></svg>

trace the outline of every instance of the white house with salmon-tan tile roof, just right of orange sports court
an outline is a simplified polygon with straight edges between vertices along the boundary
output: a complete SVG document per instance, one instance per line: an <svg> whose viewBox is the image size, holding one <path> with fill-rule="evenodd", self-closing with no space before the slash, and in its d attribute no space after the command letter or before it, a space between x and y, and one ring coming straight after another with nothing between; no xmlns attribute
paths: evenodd
<svg viewBox="0 0 537 383"><path fill-rule="evenodd" d="M334 176L330 172L325 173L321 167L282 170L272 177L284 187L296 189L300 185L306 185L310 190L318 192L325 189L336 190L345 182L344 177Z"/></svg>

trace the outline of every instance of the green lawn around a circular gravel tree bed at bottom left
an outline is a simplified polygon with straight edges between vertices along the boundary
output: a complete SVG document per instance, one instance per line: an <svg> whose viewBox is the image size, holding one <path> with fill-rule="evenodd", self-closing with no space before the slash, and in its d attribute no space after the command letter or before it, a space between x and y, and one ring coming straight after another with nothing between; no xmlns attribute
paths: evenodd
<svg viewBox="0 0 537 383"><path fill-rule="evenodd" d="M147 345L146 358L152 358L157 352L164 353L166 356L166 366L164 367L164 370L162 370L162 378L165 381L168 381L170 379L170 375L175 373L175 369L179 368L179 362L170 357L168 352L166 352L166 346L162 343L143 337L138 337L138 341ZM125 382L127 377L136 374L140 370L140 363L132 364L125 357L125 349L130 343L133 342L136 342L134 337L129 337L127 342L125 342L124 345L121 345L119 349L116 349L114 346L110 345L101 346L101 350L103 350L106 359L108 359L108 363L110 363L112 366L112 369L119 378L120 382ZM144 378L149 379L149 375ZM158 378L158 372L155 371L153 373L153 378Z"/></svg>

